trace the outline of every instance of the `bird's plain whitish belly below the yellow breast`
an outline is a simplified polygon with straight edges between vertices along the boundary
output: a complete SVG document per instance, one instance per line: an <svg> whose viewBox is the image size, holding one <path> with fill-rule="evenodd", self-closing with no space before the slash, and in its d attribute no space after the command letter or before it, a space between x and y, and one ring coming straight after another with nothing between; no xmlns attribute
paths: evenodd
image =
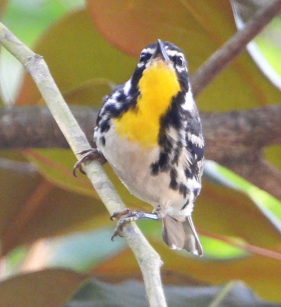
<svg viewBox="0 0 281 307"><path fill-rule="evenodd" d="M156 176L151 174L150 165L159 158L159 146L143 149L117 136L113 125L111 122L111 128L102 134L105 137L104 146L100 142L99 130L95 132L95 141L129 192L154 208L160 205L164 215L186 216L191 213L193 202L181 210L188 196L184 198L178 191L169 188L169 172L159 172Z"/></svg>

